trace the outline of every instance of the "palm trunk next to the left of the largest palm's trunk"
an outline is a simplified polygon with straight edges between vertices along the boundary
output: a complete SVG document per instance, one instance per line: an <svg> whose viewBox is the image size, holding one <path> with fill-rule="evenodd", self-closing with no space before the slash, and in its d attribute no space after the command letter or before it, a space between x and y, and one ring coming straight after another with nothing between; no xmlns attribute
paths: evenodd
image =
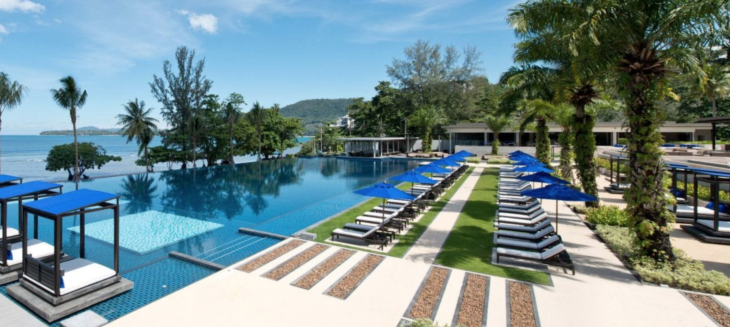
<svg viewBox="0 0 730 327"><path fill-rule="evenodd" d="M598 198L598 184L596 182L596 164L593 156L596 152L596 137L593 135L595 120L586 114L585 107L597 97L596 91L590 84L578 88L570 99L575 107L573 124L573 151L575 164L578 167L578 178L583 192ZM597 207L598 202L586 202L587 207Z"/></svg>

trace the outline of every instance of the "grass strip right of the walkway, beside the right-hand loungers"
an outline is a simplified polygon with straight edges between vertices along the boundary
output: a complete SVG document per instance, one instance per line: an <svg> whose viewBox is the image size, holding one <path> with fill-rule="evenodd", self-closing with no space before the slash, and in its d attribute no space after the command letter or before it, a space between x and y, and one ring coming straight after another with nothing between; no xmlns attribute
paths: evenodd
<svg viewBox="0 0 730 327"><path fill-rule="evenodd" d="M549 284L548 274L491 264L494 213L497 210L497 169L485 169L446 239L436 264L502 276L522 281Z"/></svg>

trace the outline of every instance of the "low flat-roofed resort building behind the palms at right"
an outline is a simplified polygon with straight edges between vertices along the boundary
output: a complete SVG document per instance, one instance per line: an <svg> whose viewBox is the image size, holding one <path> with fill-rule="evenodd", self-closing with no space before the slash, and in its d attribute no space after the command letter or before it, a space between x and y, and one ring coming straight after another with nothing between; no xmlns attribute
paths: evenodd
<svg viewBox="0 0 730 327"><path fill-rule="evenodd" d="M557 144L558 135L562 132L561 127L548 124L548 128L551 143ZM494 141L492 131L484 123L449 125L444 126L444 129L449 134L451 152L456 146L489 146ZM593 127L598 146L617 144L620 138L626 137L626 132L623 122L597 122ZM661 132L665 142L709 141L712 139L712 124L665 122L661 126ZM535 133L532 131L520 133L518 128L512 128L499 133L499 142L506 146L533 146Z"/></svg>

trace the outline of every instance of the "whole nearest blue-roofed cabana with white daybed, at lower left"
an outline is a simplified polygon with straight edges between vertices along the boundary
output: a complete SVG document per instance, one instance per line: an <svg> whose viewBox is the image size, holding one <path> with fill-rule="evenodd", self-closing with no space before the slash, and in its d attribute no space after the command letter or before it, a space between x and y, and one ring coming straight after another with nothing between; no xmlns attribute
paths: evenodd
<svg viewBox="0 0 730 327"><path fill-rule="evenodd" d="M49 322L83 310L132 289L132 282L119 275L119 196L93 190L78 190L23 205L21 234L23 271L20 284L8 287L8 294ZM111 211L114 216L114 268L86 259L86 215ZM54 230L54 252L49 259L30 255L28 215L50 220ZM63 253L63 220L78 216L79 258Z"/></svg>

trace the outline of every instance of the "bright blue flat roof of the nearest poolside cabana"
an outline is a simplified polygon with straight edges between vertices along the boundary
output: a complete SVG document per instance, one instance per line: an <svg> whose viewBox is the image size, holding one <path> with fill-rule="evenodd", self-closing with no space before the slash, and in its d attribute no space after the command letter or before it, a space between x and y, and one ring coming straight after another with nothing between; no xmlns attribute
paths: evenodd
<svg viewBox="0 0 730 327"><path fill-rule="evenodd" d="M43 200L33 201L23 206L58 216L67 212L76 211L82 208L91 207L102 202L118 198L119 195L94 191L78 190Z"/></svg>

